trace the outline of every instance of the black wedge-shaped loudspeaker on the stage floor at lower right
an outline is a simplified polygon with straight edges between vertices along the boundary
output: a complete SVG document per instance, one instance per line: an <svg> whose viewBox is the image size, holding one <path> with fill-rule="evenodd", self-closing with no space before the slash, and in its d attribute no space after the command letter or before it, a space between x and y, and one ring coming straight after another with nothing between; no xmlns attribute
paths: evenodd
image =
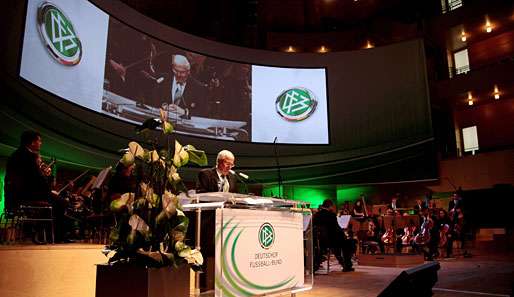
<svg viewBox="0 0 514 297"><path fill-rule="evenodd" d="M432 296L440 268L439 262L430 262L404 270L377 297Z"/></svg>

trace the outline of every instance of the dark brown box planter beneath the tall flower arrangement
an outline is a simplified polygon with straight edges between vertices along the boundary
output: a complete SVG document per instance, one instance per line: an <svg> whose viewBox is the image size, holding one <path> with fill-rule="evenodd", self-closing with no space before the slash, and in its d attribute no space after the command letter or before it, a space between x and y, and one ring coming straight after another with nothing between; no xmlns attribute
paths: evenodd
<svg viewBox="0 0 514 297"><path fill-rule="evenodd" d="M97 265L96 297L189 296L189 266L144 268L133 265Z"/></svg>

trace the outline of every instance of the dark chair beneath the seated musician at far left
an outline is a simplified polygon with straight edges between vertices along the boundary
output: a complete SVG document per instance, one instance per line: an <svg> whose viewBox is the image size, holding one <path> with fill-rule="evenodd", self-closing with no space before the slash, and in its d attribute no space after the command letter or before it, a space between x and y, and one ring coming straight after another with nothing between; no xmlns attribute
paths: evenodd
<svg viewBox="0 0 514 297"><path fill-rule="evenodd" d="M16 216L18 217L18 231L17 234L22 236L25 224L32 224L34 226L42 227L43 240L46 241L46 228L47 224L51 227L52 243L55 242L55 226L54 226L54 214L52 206L41 203L41 204L20 204L17 210Z"/></svg>

